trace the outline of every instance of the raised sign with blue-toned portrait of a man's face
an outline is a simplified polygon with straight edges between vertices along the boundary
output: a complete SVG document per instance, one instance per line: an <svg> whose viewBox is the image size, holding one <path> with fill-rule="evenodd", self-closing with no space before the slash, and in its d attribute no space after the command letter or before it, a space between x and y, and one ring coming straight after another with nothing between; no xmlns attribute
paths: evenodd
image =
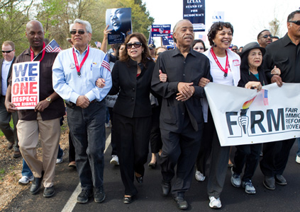
<svg viewBox="0 0 300 212"><path fill-rule="evenodd" d="M131 8L110 8L106 10L106 25L111 33L108 35L110 44L123 43L127 35L132 33Z"/></svg>

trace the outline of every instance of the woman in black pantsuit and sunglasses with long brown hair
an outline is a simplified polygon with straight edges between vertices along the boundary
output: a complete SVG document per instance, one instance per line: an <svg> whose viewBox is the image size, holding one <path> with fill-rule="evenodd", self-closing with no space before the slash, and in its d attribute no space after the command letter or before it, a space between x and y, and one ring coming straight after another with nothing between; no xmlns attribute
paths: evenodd
<svg viewBox="0 0 300 212"><path fill-rule="evenodd" d="M120 55L111 72L113 87L110 95L118 94L113 107L113 127L122 182L124 204L130 204L138 194L134 178L143 183L148 159L151 105L150 83L155 62L152 61L146 38L133 33L125 40L126 50Z"/></svg>

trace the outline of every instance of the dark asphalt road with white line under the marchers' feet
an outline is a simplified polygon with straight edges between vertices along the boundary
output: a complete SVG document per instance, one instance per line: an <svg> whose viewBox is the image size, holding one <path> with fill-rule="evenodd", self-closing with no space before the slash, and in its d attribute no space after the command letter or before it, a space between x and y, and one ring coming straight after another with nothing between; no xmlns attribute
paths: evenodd
<svg viewBox="0 0 300 212"><path fill-rule="evenodd" d="M106 137L109 134L110 131L107 131ZM262 172L257 167L252 179L257 194L246 194L242 188L235 188L230 184L230 169L228 168L225 186L221 194L222 208L218 211L300 211L300 164L295 162L296 149L297 143L291 149L289 163L284 172L288 184L286 186L276 185L274 191L265 189L262 184ZM234 153L234 151L235 148L232 152ZM233 153L231 158L233 158ZM67 167L67 156L68 154L65 153L65 162L57 165L55 196L49 199L44 198L43 189L38 194L31 195L28 186L28 189L13 199L9 208L4 211L180 211L171 196L161 196L159 166L155 170L146 167L143 184L137 184L139 192L137 198L132 204L123 204L124 189L119 168L109 164L111 146L105 153L105 201L96 204L91 199L87 204L76 204L77 194L74 195L73 192L79 184L79 179L76 170ZM189 202L187 211L213 211L209 208L206 185L207 180L196 182L196 179L193 179L191 189L185 194Z"/></svg>

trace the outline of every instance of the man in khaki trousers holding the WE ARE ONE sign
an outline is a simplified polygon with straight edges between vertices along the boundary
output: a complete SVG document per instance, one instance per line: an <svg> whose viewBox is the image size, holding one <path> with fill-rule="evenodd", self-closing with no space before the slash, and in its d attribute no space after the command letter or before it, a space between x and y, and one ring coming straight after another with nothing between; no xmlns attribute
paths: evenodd
<svg viewBox="0 0 300 212"><path fill-rule="evenodd" d="M45 52L43 25L38 20L30 20L26 24L26 37L30 47L16 58L15 63L40 61L40 102L35 105L34 110L18 110L11 103L10 78L5 106L8 112L18 112L17 131L20 151L34 175L30 193L38 194L43 182L45 188L43 196L50 197L55 194L53 184L60 141L60 117L65 115L65 103L52 88L51 69L57 53ZM36 156L39 140L43 146L43 160L39 160Z"/></svg>

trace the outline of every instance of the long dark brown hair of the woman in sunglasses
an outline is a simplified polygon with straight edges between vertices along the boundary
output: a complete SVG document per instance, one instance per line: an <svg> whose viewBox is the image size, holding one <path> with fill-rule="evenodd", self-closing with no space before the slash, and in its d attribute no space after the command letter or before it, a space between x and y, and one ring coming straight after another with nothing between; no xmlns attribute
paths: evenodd
<svg viewBox="0 0 300 212"><path fill-rule="evenodd" d="M153 61L152 58L150 57L149 48L147 45L147 39L145 35L143 35L142 33L133 33L128 35L125 39L124 45L126 46L132 37L138 38L138 40L142 43L142 47L144 47L144 51L142 52L142 61L141 61L144 64L144 66L147 63L147 61L149 60ZM125 49L125 51L123 51L123 53L120 55L120 60L126 61L128 63L129 59L130 56L128 55L127 49Z"/></svg>

